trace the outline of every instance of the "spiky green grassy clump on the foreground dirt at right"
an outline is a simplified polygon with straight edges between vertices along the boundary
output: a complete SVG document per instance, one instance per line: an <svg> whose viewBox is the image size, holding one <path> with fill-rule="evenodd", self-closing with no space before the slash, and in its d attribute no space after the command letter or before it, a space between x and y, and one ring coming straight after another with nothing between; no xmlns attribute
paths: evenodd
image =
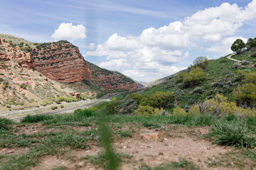
<svg viewBox="0 0 256 170"><path fill-rule="evenodd" d="M245 124L232 122L218 122L213 125L208 134L214 137L214 144L235 147L255 147L255 137Z"/></svg>

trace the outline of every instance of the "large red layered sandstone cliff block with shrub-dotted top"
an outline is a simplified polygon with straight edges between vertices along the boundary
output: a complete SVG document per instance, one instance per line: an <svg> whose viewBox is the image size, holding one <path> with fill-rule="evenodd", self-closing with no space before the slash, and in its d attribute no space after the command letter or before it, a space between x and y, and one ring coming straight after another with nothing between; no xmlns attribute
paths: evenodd
<svg viewBox="0 0 256 170"><path fill-rule="evenodd" d="M70 42L43 43L32 52L33 67L49 79L73 83L90 81L90 69L78 47Z"/></svg>

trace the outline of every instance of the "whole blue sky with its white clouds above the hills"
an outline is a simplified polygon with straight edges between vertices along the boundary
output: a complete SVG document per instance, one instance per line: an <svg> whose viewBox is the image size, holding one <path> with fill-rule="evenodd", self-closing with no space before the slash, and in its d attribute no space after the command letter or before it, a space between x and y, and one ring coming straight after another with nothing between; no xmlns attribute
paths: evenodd
<svg viewBox="0 0 256 170"><path fill-rule="evenodd" d="M228 55L255 37L256 0L0 1L0 33L31 42L69 40L85 60L153 81L199 56Z"/></svg>

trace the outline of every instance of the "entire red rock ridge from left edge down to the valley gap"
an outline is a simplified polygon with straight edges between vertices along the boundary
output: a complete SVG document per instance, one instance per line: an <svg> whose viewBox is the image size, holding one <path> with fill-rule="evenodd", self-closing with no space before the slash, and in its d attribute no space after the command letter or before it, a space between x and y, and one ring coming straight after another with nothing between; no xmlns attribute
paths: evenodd
<svg viewBox="0 0 256 170"><path fill-rule="evenodd" d="M0 38L0 69L11 67L36 69L48 79L80 83L82 88L97 86L107 90L133 91L138 87L135 81L119 72L86 62L78 47L65 40L39 44L20 41L17 45Z"/></svg>

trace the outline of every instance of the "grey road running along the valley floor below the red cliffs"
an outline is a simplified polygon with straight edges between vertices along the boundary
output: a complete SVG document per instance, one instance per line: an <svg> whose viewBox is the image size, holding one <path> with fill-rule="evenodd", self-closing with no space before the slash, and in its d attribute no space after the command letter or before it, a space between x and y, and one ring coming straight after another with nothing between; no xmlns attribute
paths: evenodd
<svg viewBox="0 0 256 170"><path fill-rule="evenodd" d="M108 98L112 98L113 96L117 96L118 94L119 93L105 95L100 99L97 99L97 100L92 101L90 103L85 103L85 104L80 105L80 106L74 106L74 107L70 107L70 108L63 108L63 109L60 109L58 111L49 111L49 112L46 112L46 113L39 113L39 114L36 114L36 115L52 115L52 114L56 114L56 113L63 113L65 111L72 111L72 110L75 110L75 109L78 109L78 108L94 106L95 104L100 103L101 101L106 101ZM14 119L11 119L11 120L14 120L15 122L18 122L18 121L22 120L23 118L25 118L25 117L14 118Z"/></svg>

